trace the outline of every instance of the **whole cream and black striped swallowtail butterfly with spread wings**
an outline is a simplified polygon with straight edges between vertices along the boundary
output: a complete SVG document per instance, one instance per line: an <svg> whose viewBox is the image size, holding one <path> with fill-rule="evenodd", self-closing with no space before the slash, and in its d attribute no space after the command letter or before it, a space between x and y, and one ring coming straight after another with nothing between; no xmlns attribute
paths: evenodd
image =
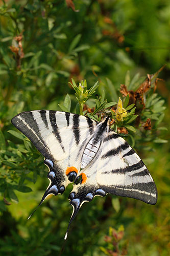
<svg viewBox="0 0 170 256"><path fill-rule="evenodd" d="M68 197L73 211L64 239L82 204L95 196L113 194L148 204L157 202L149 170L133 148L110 128L110 121L109 116L98 122L48 110L23 112L12 119L45 157L49 169L50 184L39 205L48 195L62 194L74 182Z"/></svg>

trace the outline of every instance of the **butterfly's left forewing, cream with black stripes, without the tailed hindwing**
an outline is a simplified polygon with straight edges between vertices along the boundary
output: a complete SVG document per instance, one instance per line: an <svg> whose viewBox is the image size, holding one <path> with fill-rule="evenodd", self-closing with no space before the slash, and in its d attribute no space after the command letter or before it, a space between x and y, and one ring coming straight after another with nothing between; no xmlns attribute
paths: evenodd
<svg viewBox="0 0 170 256"><path fill-rule="evenodd" d="M28 111L12 123L25 134L45 158L60 161L92 134L95 121L59 111ZM80 129L81 127L81 129Z"/></svg>

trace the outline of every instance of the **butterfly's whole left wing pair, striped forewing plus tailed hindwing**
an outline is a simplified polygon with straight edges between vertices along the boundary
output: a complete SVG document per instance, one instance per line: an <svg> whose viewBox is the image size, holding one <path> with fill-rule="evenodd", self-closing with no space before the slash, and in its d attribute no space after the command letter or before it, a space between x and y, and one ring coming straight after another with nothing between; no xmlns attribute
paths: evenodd
<svg viewBox="0 0 170 256"><path fill-rule="evenodd" d="M51 183L40 204L50 194L62 194L80 171L84 142L92 136L96 122L77 114L41 110L20 113L12 123L32 141L50 168Z"/></svg>

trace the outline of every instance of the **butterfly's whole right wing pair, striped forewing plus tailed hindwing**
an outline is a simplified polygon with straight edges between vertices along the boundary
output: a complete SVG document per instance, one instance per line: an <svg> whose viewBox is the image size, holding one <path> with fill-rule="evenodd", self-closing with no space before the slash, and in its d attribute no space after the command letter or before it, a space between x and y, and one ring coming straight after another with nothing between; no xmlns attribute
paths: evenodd
<svg viewBox="0 0 170 256"><path fill-rule="evenodd" d="M104 197L110 193L156 204L157 189L147 167L131 146L109 128L108 118L97 125L93 138L93 146L100 146L91 162L81 171L79 177L82 179L69 195L73 206L69 225L82 204L95 196ZM89 144L91 141L86 142L86 149Z"/></svg>

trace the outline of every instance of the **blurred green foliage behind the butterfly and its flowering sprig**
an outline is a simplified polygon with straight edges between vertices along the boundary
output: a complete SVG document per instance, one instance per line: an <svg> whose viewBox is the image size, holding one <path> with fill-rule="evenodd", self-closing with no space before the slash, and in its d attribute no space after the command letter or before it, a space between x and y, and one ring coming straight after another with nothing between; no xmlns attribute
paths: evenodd
<svg viewBox="0 0 170 256"><path fill-rule="evenodd" d="M168 0L0 1L0 255L169 255L169 16ZM69 187L27 221L48 185L47 168L12 117L61 110L67 94L75 112L71 77L77 84L85 78L88 88L99 81L98 94L115 101L120 84L137 89L165 64L155 96L159 139L153 130L143 141L130 133L157 185L157 204L96 197L83 205L64 241Z"/></svg>

